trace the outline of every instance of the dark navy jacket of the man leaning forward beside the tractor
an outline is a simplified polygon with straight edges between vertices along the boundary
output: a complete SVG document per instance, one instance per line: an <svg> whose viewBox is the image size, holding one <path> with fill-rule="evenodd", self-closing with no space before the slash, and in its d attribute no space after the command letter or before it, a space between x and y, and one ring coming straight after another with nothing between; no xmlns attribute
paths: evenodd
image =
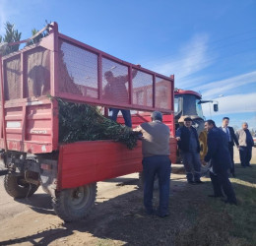
<svg viewBox="0 0 256 246"><path fill-rule="evenodd" d="M231 167L226 134L220 128L212 128L207 136L208 152L205 161L212 160L215 173L221 173Z"/></svg>

